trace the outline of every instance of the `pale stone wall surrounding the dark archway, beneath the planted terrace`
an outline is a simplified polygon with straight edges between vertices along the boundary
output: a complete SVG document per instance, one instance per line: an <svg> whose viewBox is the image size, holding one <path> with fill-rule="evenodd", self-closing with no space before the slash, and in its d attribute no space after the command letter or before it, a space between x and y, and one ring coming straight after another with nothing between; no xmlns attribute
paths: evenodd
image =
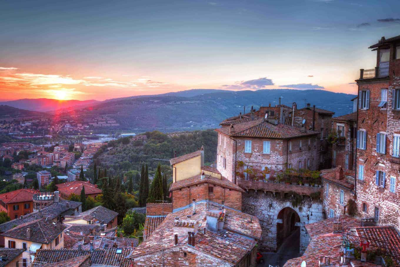
<svg viewBox="0 0 400 267"><path fill-rule="evenodd" d="M322 203L320 201L312 201L306 196L304 196L301 205L293 207L292 201L288 198L282 199L274 197L271 193L256 193L250 190L248 193L242 194L242 207L242 212L254 215L259 219L262 227L262 238L259 246L264 251L276 251L277 249L277 223L282 223L278 219L278 214L282 209L290 207L300 217L300 223L296 223L296 226L300 227L301 253L306 250L309 241L304 225L325 219Z"/></svg>

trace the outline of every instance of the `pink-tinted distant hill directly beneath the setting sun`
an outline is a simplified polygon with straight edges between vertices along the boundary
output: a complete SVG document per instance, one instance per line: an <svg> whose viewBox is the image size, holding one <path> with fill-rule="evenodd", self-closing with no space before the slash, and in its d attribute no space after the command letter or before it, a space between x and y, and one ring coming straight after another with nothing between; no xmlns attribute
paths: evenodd
<svg viewBox="0 0 400 267"><path fill-rule="evenodd" d="M14 108L22 108L33 111L52 111L62 108L82 107L87 105L96 104L100 101L97 100L57 100L49 98L30 99L24 98L13 101L0 102L0 105L12 106Z"/></svg>

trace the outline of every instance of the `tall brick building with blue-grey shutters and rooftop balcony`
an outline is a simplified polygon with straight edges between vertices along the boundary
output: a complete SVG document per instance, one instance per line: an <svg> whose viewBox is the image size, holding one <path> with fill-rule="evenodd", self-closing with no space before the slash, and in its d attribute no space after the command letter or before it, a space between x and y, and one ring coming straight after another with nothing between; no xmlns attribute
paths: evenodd
<svg viewBox="0 0 400 267"><path fill-rule="evenodd" d="M400 36L370 46L376 67L360 70L357 110L358 210L400 227Z"/></svg>

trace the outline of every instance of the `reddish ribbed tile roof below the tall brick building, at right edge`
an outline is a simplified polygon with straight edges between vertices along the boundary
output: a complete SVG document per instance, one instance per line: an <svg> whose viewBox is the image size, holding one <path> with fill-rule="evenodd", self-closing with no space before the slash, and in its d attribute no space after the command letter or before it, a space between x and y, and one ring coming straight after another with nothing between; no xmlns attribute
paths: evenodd
<svg viewBox="0 0 400 267"><path fill-rule="evenodd" d="M386 250L386 254L400 260L400 234L394 226L370 226L356 227L360 241L370 243L370 249L375 250L381 247Z"/></svg>

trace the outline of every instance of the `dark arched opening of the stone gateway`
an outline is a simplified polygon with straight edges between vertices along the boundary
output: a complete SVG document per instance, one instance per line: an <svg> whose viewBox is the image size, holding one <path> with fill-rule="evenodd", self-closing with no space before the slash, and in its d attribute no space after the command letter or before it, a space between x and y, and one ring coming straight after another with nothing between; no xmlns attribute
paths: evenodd
<svg viewBox="0 0 400 267"><path fill-rule="evenodd" d="M300 249L300 216L291 207L281 209L276 218L276 249L278 250L282 243L291 237L294 243L292 245Z"/></svg>

